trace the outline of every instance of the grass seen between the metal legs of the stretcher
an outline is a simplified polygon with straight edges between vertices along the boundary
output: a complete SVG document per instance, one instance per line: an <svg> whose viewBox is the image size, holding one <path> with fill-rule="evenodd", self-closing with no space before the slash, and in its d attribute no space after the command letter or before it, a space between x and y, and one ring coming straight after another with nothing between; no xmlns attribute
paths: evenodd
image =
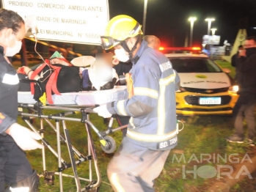
<svg viewBox="0 0 256 192"><path fill-rule="evenodd" d="M90 118L94 125L99 130L106 130L106 125L103 124L103 118L97 117L95 114L90 115ZM21 122L21 119L19 119L19 122L22 125L25 125L23 122ZM55 122L52 122L53 124ZM79 122L66 122L67 128L70 132L70 138L71 142L76 149L78 149L79 152L81 152L83 155L87 155L87 133L84 128L84 125ZM38 122L35 122L35 127L39 126ZM114 122L114 126L117 127L117 122ZM26 126L27 127L27 126ZM47 124L44 124L45 128L45 139L51 144L51 147L53 147L56 150L56 133L54 130L52 130ZM62 129L61 129L62 130ZM63 131L61 131L63 133ZM112 136L115 137L115 140L117 142L117 145L120 145L120 141L122 138L121 131L117 131ZM95 143L96 152L98 155L98 166L100 169L100 174L103 180L103 183L100 186L100 191L111 191L111 186L108 185L109 181L106 177L106 166L109 163L109 160L111 159L112 155L108 155L103 152L103 150L100 147L100 142L98 139L98 136L96 136L95 133L92 133L92 138ZM39 149L34 151L26 152L27 157L29 158L30 163L32 164L33 168L37 170L38 174L43 173L43 162L41 158L41 152ZM62 158L67 161L67 163L70 163L69 156L67 153L67 147L66 144L62 143ZM48 150L46 149L46 161L47 161L47 171L57 171L57 160L56 157ZM77 167L78 169L78 175L79 177L89 178L89 170L88 170L88 163L84 162L81 163L80 166ZM93 169L93 166L92 166ZM71 169L67 169L63 171L64 174L73 174L73 171ZM95 176L95 173L93 172L93 176ZM63 177L63 188L64 191L76 191L76 183L73 179L65 178ZM41 179L41 185L40 185L40 191L59 191L59 180L58 176L55 176L54 185L45 185L43 184L43 178ZM94 180L96 180L96 177L94 177ZM84 187L87 185L88 182L81 182L81 187Z"/></svg>

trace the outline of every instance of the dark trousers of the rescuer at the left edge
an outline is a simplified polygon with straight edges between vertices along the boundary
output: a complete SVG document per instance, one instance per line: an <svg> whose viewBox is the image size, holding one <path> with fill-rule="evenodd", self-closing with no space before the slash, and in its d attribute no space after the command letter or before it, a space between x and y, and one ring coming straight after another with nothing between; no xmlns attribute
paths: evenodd
<svg viewBox="0 0 256 192"><path fill-rule="evenodd" d="M0 135L0 192L4 191L5 185L24 180L32 174L25 152L11 136Z"/></svg>

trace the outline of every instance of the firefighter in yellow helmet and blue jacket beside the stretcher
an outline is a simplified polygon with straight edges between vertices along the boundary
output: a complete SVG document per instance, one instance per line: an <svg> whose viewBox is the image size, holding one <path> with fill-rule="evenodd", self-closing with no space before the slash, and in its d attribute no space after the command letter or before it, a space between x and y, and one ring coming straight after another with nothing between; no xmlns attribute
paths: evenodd
<svg viewBox="0 0 256 192"><path fill-rule="evenodd" d="M178 141L175 85L180 79L169 59L142 40L141 28L134 18L118 15L101 36L103 48L114 48L117 59L133 63L134 95L94 109L103 117L131 117L127 135L107 169L114 191L154 191L154 180Z"/></svg>

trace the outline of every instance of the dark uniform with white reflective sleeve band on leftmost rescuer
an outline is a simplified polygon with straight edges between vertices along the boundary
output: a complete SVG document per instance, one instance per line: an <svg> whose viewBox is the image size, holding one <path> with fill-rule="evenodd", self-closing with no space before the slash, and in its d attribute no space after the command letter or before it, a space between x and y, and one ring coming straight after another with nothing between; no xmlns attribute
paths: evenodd
<svg viewBox="0 0 256 192"><path fill-rule="evenodd" d="M0 192L5 184L15 185L36 173L23 150L4 132L18 116L18 87L18 75L4 59L4 48L0 46Z"/></svg>

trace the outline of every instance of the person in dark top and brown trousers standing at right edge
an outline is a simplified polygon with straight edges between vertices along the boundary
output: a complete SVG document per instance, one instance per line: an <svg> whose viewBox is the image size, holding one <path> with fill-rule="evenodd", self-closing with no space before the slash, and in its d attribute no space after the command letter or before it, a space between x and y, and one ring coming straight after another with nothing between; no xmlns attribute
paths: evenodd
<svg viewBox="0 0 256 192"><path fill-rule="evenodd" d="M248 128L248 143L255 146L255 106L256 106L256 37L247 37L244 42L245 50L239 51L239 98L233 108L235 117L235 134L227 141L244 143L244 117Z"/></svg>

